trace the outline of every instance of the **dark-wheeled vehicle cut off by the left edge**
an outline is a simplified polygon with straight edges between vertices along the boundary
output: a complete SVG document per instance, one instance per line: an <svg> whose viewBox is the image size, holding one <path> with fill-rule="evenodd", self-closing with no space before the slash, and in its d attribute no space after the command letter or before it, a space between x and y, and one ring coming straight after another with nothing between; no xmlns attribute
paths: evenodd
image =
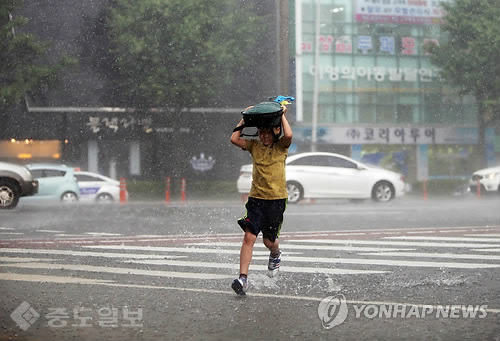
<svg viewBox="0 0 500 341"><path fill-rule="evenodd" d="M38 192L38 181L23 166L0 162L0 209L17 206L19 198Z"/></svg>

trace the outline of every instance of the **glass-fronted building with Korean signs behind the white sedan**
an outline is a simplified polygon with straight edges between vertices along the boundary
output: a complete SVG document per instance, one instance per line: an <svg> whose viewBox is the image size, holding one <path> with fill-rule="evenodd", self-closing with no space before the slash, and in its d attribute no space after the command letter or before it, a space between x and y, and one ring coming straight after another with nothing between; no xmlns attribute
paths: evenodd
<svg viewBox="0 0 500 341"><path fill-rule="evenodd" d="M424 49L446 39L440 2L295 1L297 150L350 154L410 182L475 170L475 100L445 85ZM486 138L494 165L495 130Z"/></svg>

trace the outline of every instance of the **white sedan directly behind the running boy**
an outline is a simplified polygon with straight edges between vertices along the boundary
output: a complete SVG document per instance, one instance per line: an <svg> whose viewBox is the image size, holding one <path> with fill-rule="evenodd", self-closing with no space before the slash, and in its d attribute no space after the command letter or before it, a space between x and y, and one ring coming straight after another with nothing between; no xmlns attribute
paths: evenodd
<svg viewBox="0 0 500 341"><path fill-rule="evenodd" d="M241 167L238 191L248 193L252 165ZM334 153L301 153L286 160L288 202L303 198L369 199L388 202L404 195L401 174Z"/></svg>

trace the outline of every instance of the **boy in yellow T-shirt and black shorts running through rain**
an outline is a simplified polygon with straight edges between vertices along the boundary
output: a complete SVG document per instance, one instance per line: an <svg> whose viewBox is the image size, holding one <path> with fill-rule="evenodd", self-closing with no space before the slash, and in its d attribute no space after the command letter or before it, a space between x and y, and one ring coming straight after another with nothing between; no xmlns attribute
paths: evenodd
<svg viewBox="0 0 500 341"><path fill-rule="evenodd" d="M255 240L260 232L264 245L270 251L268 269L274 271L280 266L278 237L288 200L285 160L293 136L285 116L287 109L285 106L282 109L283 136L280 137L281 127L258 128L259 140L241 138L241 130L236 130L231 135L231 143L250 152L253 162L252 187L245 204L247 213L238 220L245 232L240 250L240 276L231 284L239 295L244 295L248 287L248 268ZM242 119L238 127L243 124Z"/></svg>

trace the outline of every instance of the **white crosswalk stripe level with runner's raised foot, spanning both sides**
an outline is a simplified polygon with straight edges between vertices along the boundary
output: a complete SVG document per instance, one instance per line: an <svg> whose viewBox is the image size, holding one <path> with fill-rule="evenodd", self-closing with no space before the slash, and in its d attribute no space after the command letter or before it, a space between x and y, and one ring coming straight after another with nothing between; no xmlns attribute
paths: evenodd
<svg viewBox="0 0 500 341"><path fill-rule="evenodd" d="M265 259L266 257L260 257L259 259ZM317 258L314 258L317 259ZM287 258L288 260L288 258ZM312 261L311 261L312 262ZM170 261L170 260L138 260L132 261L132 263L138 264L148 264L148 265L170 265L170 266L183 266L183 267L196 267L196 268L217 268L217 269L232 269L238 270L240 268L239 264L232 263L215 263L215 262L191 262L191 261ZM256 271L267 271L267 265L252 264L252 270ZM365 275L365 274L382 274L388 271L381 270L353 270L353 269L332 269L332 268L315 268L315 267L296 267L296 266L285 266L280 268L283 272L293 272L293 273L326 273L332 275Z"/></svg>

